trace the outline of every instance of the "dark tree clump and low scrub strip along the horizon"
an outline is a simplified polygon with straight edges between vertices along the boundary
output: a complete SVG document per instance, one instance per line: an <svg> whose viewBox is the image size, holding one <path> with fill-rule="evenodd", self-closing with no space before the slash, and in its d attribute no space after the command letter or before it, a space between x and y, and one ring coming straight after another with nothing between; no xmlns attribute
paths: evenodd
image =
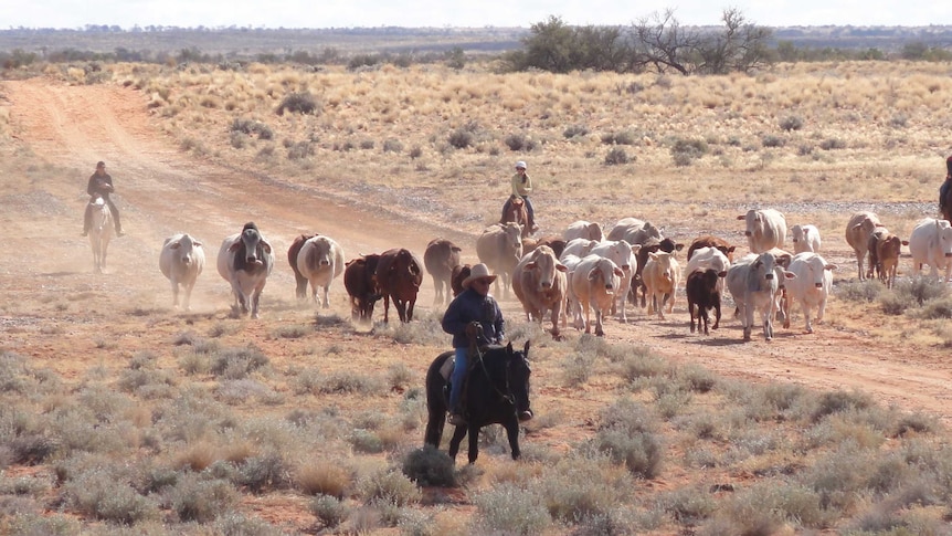
<svg viewBox="0 0 952 536"><path fill-rule="evenodd" d="M240 67L247 62L265 64L296 63L308 66L347 65L350 70L373 67L381 64L409 66L414 63L445 63L463 69L476 59L498 60L500 72L539 70L553 73L595 71L617 73L656 72L683 75L727 74L751 72L775 62L812 62L843 60L889 61L950 61L952 51L941 44L929 44L922 40L905 42L900 50L886 52L876 46L836 48L797 45L793 40L778 40L774 30L750 22L737 8L727 8L721 13L721 24L697 27L681 24L673 9L655 12L627 27L584 25L577 27L561 18L550 15L532 24L528 33L510 50L487 54L479 51L480 43L467 43L467 52L461 44L441 46L400 45L381 52L345 53L335 46L325 46L319 52L307 49L282 52L255 53L205 53L198 46L184 46L178 51L133 50L116 46L112 52L95 52L65 48L27 51L17 48L0 50L0 66L20 69L35 63L70 62L141 62L170 66L203 63L218 64L226 69ZM151 29L151 30L150 30ZM166 27L146 27L145 32L170 30ZM177 29L182 31L181 29ZM360 29L369 31L369 29ZM392 30L392 29L381 29ZM406 29L401 29L406 30ZM208 33L212 30L199 27L192 30ZM247 32L251 29L235 29ZM298 30L304 31L304 30ZM317 31L317 30L315 30ZM331 30L327 30L331 31ZM340 30L337 30L340 31ZM118 27L87 24L86 32L121 32ZM137 27L133 33L141 33ZM309 32L309 31L308 31ZM318 31L321 32L321 31ZM493 46L486 46L491 50ZM475 50L475 52L474 52Z"/></svg>

